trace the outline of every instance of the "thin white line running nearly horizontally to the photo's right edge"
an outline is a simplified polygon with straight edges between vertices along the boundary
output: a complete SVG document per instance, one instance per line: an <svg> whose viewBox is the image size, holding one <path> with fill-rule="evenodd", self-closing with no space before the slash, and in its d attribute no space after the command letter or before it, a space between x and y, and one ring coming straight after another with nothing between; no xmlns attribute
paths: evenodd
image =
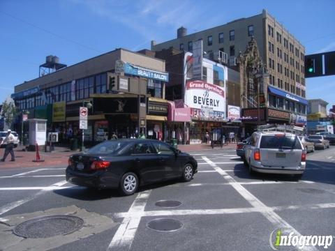
<svg viewBox="0 0 335 251"><path fill-rule="evenodd" d="M335 208L335 203L323 204L305 204L294 206L273 206L267 208L222 208L222 209L188 209L188 210L155 210L155 211L142 211L138 213L114 213L115 218L128 218L128 217L146 217L146 216L174 216L174 215L221 215L232 213L262 213L269 211L283 211L283 210L309 210L309 209L325 209Z"/></svg>

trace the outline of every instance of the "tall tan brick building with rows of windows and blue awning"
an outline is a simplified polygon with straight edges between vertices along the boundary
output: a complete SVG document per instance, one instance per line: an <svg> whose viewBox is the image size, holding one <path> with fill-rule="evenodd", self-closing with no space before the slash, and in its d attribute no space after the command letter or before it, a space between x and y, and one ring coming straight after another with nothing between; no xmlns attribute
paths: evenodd
<svg viewBox="0 0 335 251"><path fill-rule="evenodd" d="M241 68L239 69L242 74L240 77L242 112L245 109L245 114L242 113L241 116L249 119L256 118L247 122L250 126L248 130L254 130L255 125L259 123L294 123L300 126L306 123L305 48L282 24L269 15L267 10L263 10L260 15L241 18L189 35L186 29L181 27L177 31L176 39L159 44L152 41L151 50L158 51L174 47L192 52L195 41L198 40L203 40L204 51L207 52L209 59L225 61L223 60L225 54L218 53L225 52L228 59L226 63L232 68L241 63L239 62L241 52L251 54L255 50L248 48L257 48L256 61L261 62L262 68L265 69L262 71L261 90L257 90L257 85L260 83L254 81L255 88L244 91L251 77L243 79L244 73L241 72ZM252 40L254 45L251 46ZM242 71L253 70L247 67L245 63ZM259 66L255 68L260 70ZM257 73L253 73L253 79L258 78L255 75Z"/></svg>

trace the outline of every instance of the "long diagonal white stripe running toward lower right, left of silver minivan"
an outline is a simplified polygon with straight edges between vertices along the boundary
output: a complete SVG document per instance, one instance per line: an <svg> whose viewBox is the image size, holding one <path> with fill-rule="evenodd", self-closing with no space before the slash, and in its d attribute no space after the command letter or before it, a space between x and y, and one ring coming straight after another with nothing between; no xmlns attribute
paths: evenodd
<svg viewBox="0 0 335 251"><path fill-rule="evenodd" d="M251 192L246 190L246 188L244 188L244 186L237 183L237 181L235 181L234 178L232 178L232 176L228 175L227 172L223 171L223 169L221 169L220 167L215 165L214 162L211 162L211 160L209 160L207 157L203 156L202 158L209 165L211 165L211 167L213 167L214 170L216 170L216 172L221 174L221 176L223 176L223 178L225 178L225 180L228 181L228 183L230 183L230 185L232 185L232 187L235 190L237 190L237 192L239 192L239 194L242 197L244 197L244 199L246 199L246 201L248 201L254 208L257 208L260 211L260 213L262 213L262 215L264 215L265 218L267 218L267 220L269 220L269 222L271 222L274 225L274 227L289 228L289 229L292 229L292 231L295 231L295 233L298 236L301 236L301 234L299 234L299 231L297 231L297 229L295 229L290 224L288 224L288 222L283 220L283 218L281 218L276 212L274 212L273 209L271 209L267 205L263 204L262 201L260 201L257 197L255 197L253 194L251 194ZM306 250L317 250L316 248L313 248L313 247L305 247L305 248L306 248Z"/></svg>

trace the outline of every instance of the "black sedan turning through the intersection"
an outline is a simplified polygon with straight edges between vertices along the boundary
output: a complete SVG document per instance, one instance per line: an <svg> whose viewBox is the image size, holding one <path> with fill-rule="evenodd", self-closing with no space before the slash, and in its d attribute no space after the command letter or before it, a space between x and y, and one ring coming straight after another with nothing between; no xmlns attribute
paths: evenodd
<svg viewBox="0 0 335 251"><path fill-rule="evenodd" d="M119 188L132 195L139 185L183 178L191 181L198 162L188 153L152 139L105 141L70 156L66 181L92 188Z"/></svg>

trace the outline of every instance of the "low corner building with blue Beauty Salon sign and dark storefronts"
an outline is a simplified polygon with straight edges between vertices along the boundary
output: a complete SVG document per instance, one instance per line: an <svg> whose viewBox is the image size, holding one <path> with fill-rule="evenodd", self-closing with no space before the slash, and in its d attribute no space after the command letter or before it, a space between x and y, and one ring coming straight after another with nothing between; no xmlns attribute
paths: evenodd
<svg viewBox="0 0 335 251"><path fill-rule="evenodd" d="M29 118L66 141L81 134L79 107L91 102L85 141L163 135L168 116L165 61L117 49L15 86L12 98ZM19 123L20 125L20 123ZM148 133L149 132L149 133ZM80 137L78 137L80 138Z"/></svg>

